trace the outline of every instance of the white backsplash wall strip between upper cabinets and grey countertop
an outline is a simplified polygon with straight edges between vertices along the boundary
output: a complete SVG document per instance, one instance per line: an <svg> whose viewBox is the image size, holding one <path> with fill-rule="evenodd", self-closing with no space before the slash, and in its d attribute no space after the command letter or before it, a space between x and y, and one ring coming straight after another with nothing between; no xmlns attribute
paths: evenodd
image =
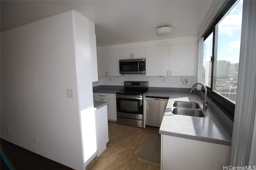
<svg viewBox="0 0 256 170"><path fill-rule="evenodd" d="M165 78L165 82L163 82L163 78ZM148 81L149 87L191 88L196 83L196 76L182 76L182 78L188 78L188 83L182 84L181 76L159 77L145 76L144 74L125 74L125 76L120 77L99 77L99 81L94 82L93 86L124 86L124 81Z"/></svg>

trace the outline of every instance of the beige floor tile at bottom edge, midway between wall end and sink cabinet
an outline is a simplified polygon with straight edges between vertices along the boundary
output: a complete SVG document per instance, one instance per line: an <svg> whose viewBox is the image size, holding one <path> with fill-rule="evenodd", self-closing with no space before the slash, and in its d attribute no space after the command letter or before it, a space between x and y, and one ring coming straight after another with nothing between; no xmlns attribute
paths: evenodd
<svg viewBox="0 0 256 170"><path fill-rule="evenodd" d="M129 162L130 158L116 154L105 167L105 170L125 170Z"/></svg>

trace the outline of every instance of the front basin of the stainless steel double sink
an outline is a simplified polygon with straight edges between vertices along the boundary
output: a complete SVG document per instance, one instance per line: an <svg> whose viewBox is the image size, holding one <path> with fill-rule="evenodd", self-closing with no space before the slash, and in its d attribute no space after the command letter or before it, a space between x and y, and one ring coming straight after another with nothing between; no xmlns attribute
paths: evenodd
<svg viewBox="0 0 256 170"><path fill-rule="evenodd" d="M180 108L180 107L174 107L172 109L172 113L176 115L186 115L186 116L195 116L195 117L205 116L201 109L188 109L188 108Z"/></svg>

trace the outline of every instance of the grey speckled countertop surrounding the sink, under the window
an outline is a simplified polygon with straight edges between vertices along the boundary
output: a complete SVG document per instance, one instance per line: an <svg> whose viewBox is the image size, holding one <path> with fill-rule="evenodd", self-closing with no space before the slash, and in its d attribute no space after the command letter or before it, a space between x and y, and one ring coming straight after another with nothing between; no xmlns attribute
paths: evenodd
<svg viewBox="0 0 256 170"><path fill-rule="evenodd" d="M203 108L201 99L196 93L148 91L144 93L144 96L169 97L159 129L160 134L231 146L231 132L216 117L210 107L203 111L205 117L172 113L172 103L174 101L196 102Z"/></svg>

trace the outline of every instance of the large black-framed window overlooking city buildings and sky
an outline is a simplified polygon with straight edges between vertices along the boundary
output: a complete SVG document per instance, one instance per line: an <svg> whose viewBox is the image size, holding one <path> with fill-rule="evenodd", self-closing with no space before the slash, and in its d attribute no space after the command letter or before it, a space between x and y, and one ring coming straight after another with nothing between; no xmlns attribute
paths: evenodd
<svg viewBox="0 0 256 170"><path fill-rule="evenodd" d="M202 83L234 115L242 27L242 0L229 1L204 35Z"/></svg>

